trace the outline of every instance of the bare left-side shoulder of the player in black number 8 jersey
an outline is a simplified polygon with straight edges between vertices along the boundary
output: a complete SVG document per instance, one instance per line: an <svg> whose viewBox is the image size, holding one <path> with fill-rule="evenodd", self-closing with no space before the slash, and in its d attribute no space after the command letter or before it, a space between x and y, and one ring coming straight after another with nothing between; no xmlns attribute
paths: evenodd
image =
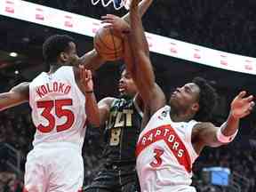
<svg viewBox="0 0 256 192"><path fill-rule="evenodd" d="M100 111L100 125L105 124L108 120L110 108L114 100L116 100L116 98L108 97L98 102L98 107Z"/></svg>

